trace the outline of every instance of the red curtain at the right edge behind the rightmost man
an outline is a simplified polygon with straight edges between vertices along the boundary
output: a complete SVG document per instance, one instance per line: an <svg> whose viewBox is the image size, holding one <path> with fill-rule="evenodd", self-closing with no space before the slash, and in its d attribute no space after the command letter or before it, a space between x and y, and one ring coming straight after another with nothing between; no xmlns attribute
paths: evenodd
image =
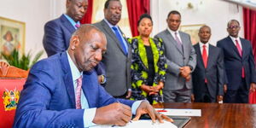
<svg viewBox="0 0 256 128"><path fill-rule="evenodd" d="M251 41L256 60L256 11L243 8L244 37ZM256 103L256 92L249 94L249 103Z"/></svg>

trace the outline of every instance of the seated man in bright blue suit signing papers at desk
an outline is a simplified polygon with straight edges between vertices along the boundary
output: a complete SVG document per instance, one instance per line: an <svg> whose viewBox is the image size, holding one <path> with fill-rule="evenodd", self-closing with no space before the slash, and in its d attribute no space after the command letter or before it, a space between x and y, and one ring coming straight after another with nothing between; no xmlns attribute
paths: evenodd
<svg viewBox="0 0 256 128"><path fill-rule="evenodd" d="M13 127L125 125L132 113L135 119L143 113L153 121L168 119L146 101L115 99L98 85L94 67L106 46L96 26L83 25L73 33L66 52L38 61L20 93Z"/></svg>

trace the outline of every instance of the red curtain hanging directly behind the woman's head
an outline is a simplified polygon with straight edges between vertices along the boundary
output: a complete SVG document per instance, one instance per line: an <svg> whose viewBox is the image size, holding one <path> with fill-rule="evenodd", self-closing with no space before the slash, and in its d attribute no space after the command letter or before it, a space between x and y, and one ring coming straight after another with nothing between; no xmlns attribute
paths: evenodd
<svg viewBox="0 0 256 128"><path fill-rule="evenodd" d="M138 35L137 20L140 15L150 14L149 0L126 0L132 36Z"/></svg>

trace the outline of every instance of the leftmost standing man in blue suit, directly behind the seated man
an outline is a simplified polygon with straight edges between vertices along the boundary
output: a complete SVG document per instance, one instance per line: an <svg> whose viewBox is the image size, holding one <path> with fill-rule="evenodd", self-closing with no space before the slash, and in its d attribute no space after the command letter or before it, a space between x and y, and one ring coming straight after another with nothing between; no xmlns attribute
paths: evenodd
<svg viewBox="0 0 256 128"><path fill-rule="evenodd" d="M88 8L88 0L67 0L67 13L61 17L48 21L44 26L44 49L48 56L66 51L73 32L80 26ZM106 83L105 66L102 62L98 64L96 73L101 84Z"/></svg>

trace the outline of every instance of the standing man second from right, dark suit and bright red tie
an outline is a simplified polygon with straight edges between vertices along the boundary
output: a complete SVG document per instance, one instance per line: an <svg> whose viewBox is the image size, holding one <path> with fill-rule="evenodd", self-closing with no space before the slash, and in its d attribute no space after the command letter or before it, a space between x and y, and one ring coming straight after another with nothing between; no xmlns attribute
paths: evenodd
<svg viewBox="0 0 256 128"><path fill-rule="evenodd" d="M223 101L224 55L222 49L208 43L211 35L209 26L201 26L198 33L200 42L194 45L197 55L192 73L195 102Z"/></svg>

